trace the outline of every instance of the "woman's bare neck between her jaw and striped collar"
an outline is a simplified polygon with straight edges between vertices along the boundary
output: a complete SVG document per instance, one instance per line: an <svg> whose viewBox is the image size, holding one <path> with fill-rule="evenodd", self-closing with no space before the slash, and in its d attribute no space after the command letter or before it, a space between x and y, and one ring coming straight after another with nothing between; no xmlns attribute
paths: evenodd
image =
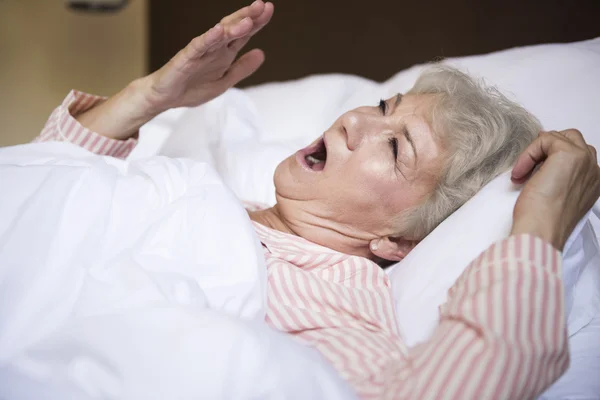
<svg viewBox="0 0 600 400"><path fill-rule="evenodd" d="M278 204L260 211L249 211L248 215L254 222L268 228L291 235L300 236L313 243L339 251L344 254L357 255L373 259L369 250L370 238L355 235L342 227L336 227L331 221L312 217L306 220L286 219Z"/></svg>

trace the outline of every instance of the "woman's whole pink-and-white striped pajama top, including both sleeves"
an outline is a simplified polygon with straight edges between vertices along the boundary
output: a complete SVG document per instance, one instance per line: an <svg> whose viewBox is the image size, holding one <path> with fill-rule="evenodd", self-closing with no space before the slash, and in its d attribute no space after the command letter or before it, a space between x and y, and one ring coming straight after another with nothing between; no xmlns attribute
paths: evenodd
<svg viewBox="0 0 600 400"><path fill-rule="evenodd" d="M105 138L73 118L101 101L72 91L35 141L125 158L135 139ZM254 227L268 270L266 322L319 350L361 398L529 399L568 366L560 253L537 237L482 253L450 289L433 337L409 349L378 265Z"/></svg>

